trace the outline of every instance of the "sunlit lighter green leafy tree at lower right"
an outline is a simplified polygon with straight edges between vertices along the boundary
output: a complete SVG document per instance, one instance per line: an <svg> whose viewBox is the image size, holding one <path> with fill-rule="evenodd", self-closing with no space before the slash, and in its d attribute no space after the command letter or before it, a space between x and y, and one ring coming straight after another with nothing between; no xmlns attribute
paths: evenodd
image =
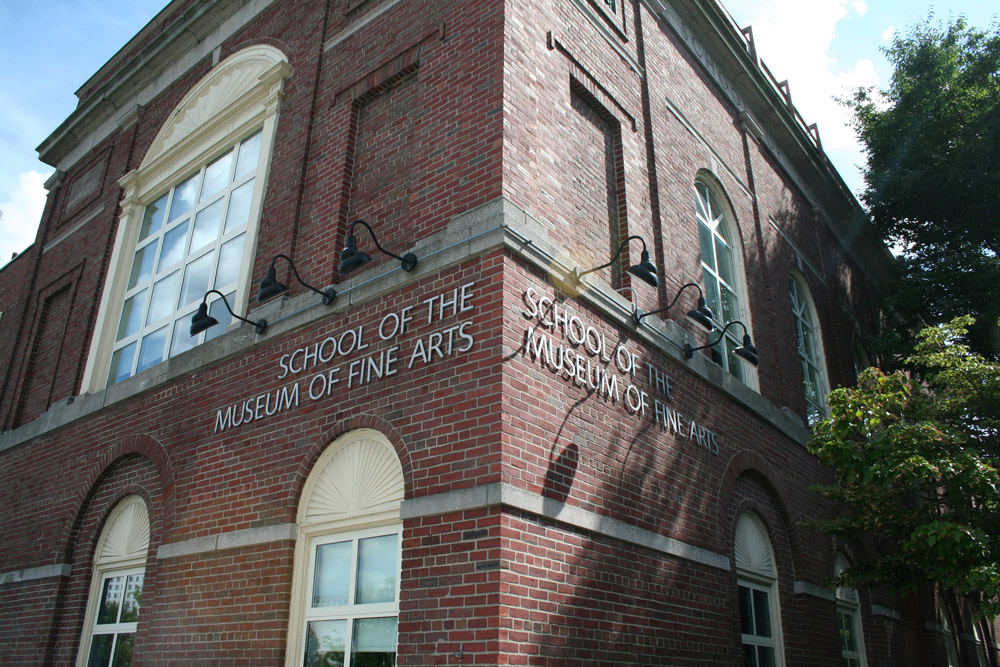
<svg viewBox="0 0 1000 667"><path fill-rule="evenodd" d="M909 372L870 368L831 392L831 416L809 447L835 482L820 491L846 511L811 521L822 532L873 540L840 583L897 592L937 584L980 592L1000 613L1000 363L962 340L969 316L929 327Z"/></svg>

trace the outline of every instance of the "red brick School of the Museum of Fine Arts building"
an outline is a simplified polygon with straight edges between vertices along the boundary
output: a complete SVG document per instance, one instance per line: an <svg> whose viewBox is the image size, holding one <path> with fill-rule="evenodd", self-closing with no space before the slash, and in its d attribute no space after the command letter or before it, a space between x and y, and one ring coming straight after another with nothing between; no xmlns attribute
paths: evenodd
<svg viewBox="0 0 1000 667"><path fill-rule="evenodd" d="M7 664L994 664L823 586L885 253L715 0L174 0L77 94L0 271Z"/></svg>

